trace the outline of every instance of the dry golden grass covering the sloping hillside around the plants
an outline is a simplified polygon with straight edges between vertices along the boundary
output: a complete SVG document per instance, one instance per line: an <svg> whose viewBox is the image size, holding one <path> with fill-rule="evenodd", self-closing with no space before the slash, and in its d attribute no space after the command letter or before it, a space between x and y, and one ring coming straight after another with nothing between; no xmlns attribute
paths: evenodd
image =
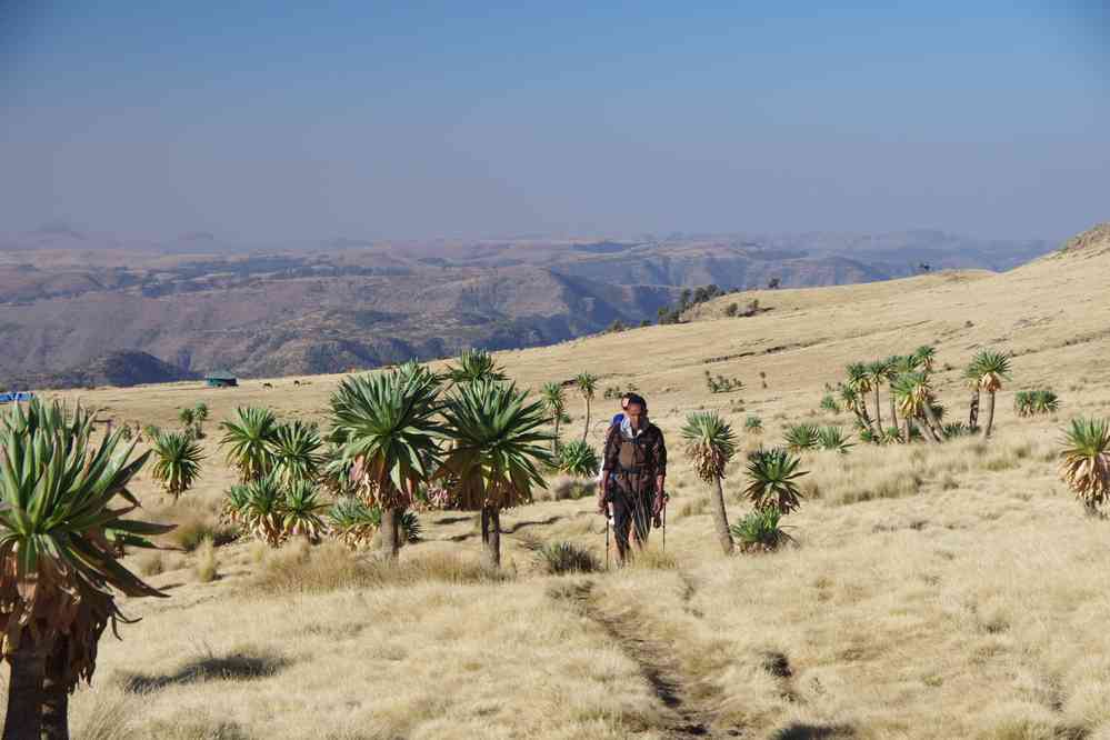
<svg viewBox="0 0 1110 740"><path fill-rule="evenodd" d="M589 370L648 397L670 440L667 550L656 532L622 571L546 574L526 539L604 558L590 499L553 494L503 516L498 578L478 568L464 512L422 514L424 539L396 569L334 544L224 543L216 512L232 474L214 422L247 403L322 421L338 377L59 393L166 427L197 401L212 413L196 490L172 503L139 484L148 518L180 522L171 539L190 550L129 556L170 598L124 604L142 621L102 641L93 686L73 698L76 734L1110 739L1110 522L1084 516L1056 469L1067 419L1110 416L1108 278L1110 259L1068 254L1002 276L761 291L689 324L500 353L530 387ZM772 310L719 318L752 298ZM787 518L798 546L722 557L678 440L684 416L718 409L741 429L759 414L767 443L802 419L847 424L817 412L823 383L923 343L956 419L971 354L1016 353L994 438L807 453L807 498ZM747 389L711 394L707 369ZM1043 386L1059 416L1018 418L1013 391ZM614 403L594 407L604 419ZM574 400L568 436L583 411ZM726 481L733 519L741 468Z"/></svg>

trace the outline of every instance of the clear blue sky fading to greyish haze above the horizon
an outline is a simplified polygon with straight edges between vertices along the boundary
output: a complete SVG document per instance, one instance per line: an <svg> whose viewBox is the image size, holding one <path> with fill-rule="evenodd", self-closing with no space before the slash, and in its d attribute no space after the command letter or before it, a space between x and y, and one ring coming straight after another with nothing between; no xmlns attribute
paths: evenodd
<svg viewBox="0 0 1110 740"><path fill-rule="evenodd" d="M0 0L0 231L1110 219L1098 0L283 4Z"/></svg>

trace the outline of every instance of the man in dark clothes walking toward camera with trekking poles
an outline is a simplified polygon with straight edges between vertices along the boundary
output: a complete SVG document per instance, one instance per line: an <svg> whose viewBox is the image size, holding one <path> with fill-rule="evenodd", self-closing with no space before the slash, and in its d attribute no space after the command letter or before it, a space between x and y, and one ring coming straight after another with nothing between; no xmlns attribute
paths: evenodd
<svg viewBox="0 0 1110 740"><path fill-rule="evenodd" d="M648 402L628 394L623 418L609 428L602 462L598 509L609 517L612 507L617 559L623 564L629 554L629 536L638 547L648 543L652 523L667 502L667 444L663 433L648 420Z"/></svg>

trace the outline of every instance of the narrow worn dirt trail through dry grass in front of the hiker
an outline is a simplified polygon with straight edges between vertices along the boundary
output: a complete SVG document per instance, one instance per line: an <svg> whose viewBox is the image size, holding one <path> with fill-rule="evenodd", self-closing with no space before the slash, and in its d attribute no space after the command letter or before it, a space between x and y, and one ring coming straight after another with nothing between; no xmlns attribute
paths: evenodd
<svg viewBox="0 0 1110 740"><path fill-rule="evenodd" d="M640 673L663 706L667 721L661 728L669 738L734 738L737 730L714 731L713 716L690 699L690 680L670 657L673 648L652 640L640 630L634 608L621 613L603 610L593 592L593 581L581 581L553 592L601 627L621 651L640 667Z"/></svg>

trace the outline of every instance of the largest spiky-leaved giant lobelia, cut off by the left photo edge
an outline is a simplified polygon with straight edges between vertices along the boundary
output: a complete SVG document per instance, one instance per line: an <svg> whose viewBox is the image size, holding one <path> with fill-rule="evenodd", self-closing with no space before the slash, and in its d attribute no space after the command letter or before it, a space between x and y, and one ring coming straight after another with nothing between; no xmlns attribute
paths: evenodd
<svg viewBox="0 0 1110 740"><path fill-rule="evenodd" d="M38 399L0 414L0 646L11 666L7 740L69 737L69 694L91 681L117 598L166 597L121 562L124 547L173 529L133 519L129 491L150 452L93 417Z"/></svg>

